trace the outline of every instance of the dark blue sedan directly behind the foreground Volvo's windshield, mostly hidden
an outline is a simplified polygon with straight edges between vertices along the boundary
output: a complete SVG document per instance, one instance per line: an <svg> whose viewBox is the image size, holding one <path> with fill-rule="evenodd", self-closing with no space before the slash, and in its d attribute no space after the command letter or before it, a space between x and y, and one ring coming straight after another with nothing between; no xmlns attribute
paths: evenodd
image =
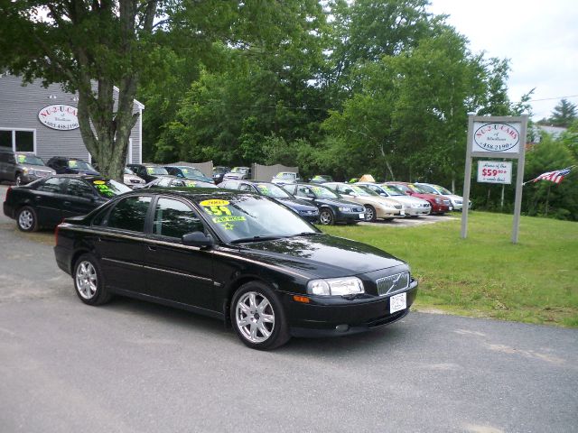
<svg viewBox="0 0 578 433"><path fill-rule="evenodd" d="M237 189L239 191L252 192L274 198L286 207L291 207L300 217L305 218L310 223L319 220L319 209L304 200L295 198L285 189L275 185L273 182L259 182L258 180L225 180L219 188Z"/></svg>

